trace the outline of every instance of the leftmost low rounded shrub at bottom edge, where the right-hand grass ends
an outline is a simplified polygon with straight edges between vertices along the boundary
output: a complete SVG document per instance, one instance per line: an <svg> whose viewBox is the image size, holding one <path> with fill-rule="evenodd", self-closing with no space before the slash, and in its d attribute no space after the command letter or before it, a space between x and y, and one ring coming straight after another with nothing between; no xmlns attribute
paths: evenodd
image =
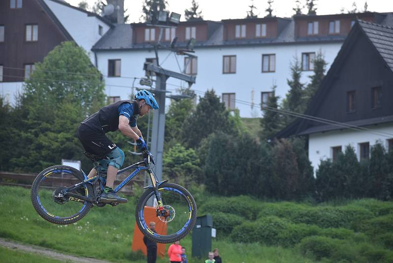
<svg viewBox="0 0 393 263"><path fill-rule="evenodd" d="M300 251L305 255L312 255L316 260L329 258L339 249L338 239L326 236L309 236L302 239Z"/></svg>

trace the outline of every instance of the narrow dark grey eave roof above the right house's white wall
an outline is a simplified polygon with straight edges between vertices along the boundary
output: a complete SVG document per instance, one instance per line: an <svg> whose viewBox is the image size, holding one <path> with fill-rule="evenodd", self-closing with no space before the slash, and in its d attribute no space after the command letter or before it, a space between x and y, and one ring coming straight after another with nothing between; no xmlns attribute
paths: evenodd
<svg viewBox="0 0 393 263"><path fill-rule="evenodd" d="M375 125L375 124L386 123L386 122L393 122L393 115L384 116L384 117L375 117L369 119L358 119L358 120L345 122L345 124L359 127L359 126ZM310 127L307 130L300 132L298 135L307 135L311 133L326 132L326 131L341 130L341 129L347 129L347 128L338 125L319 125L319 126Z"/></svg>

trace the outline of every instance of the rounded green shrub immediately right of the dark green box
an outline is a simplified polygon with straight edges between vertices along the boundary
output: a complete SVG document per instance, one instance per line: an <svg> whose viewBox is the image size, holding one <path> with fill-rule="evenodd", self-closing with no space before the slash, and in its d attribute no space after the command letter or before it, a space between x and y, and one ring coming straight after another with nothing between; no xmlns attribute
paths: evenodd
<svg viewBox="0 0 393 263"><path fill-rule="evenodd" d="M245 220L238 215L217 212L213 213L213 227L217 230L217 237L228 235L233 228L241 225Z"/></svg>

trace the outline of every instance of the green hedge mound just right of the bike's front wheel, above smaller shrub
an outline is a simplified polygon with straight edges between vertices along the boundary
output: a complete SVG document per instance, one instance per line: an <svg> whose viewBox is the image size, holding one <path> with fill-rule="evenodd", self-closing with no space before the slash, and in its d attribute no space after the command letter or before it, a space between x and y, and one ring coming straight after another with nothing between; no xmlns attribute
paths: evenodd
<svg viewBox="0 0 393 263"><path fill-rule="evenodd" d="M202 214L223 212L255 220L260 210L260 202L247 196L213 198L203 204L200 210Z"/></svg>

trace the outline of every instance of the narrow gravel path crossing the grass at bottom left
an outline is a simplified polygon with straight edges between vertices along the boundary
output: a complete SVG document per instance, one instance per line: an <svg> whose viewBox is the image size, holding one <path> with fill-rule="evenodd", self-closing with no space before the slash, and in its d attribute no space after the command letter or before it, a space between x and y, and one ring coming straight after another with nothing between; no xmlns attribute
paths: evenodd
<svg viewBox="0 0 393 263"><path fill-rule="evenodd" d="M0 238L0 246L19 250L22 252L35 253L41 256L45 256L60 261L76 262L76 263L111 263L109 261L104 261L104 260L70 256L59 252L55 252L54 250L44 247L33 246L33 245L22 245L20 243L15 243L13 241L12 242L6 241L2 238Z"/></svg>

